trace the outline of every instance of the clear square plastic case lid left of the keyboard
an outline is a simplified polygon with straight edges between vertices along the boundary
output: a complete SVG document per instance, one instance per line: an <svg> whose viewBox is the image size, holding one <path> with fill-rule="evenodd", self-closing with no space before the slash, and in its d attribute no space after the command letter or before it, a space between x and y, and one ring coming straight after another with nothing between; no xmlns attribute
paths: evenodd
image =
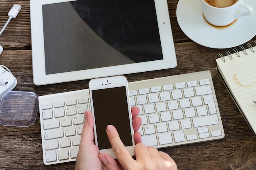
<svg viewBox="0 0 256 170"><path fill-rule="evenodd" d="M8 91L0 102L0 124L28 127L36 121L38 96L27 91Z"/></svg>

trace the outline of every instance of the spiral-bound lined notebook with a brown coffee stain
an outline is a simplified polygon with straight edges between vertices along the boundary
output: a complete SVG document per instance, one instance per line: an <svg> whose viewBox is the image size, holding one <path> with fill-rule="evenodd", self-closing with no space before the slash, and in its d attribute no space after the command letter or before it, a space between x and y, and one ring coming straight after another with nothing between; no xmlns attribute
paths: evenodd
<svg viewBox="0 0 256 170"><path fill-rule="evenodd" d="M216 70L256 136L256 41L219 56Z"/></svg>

